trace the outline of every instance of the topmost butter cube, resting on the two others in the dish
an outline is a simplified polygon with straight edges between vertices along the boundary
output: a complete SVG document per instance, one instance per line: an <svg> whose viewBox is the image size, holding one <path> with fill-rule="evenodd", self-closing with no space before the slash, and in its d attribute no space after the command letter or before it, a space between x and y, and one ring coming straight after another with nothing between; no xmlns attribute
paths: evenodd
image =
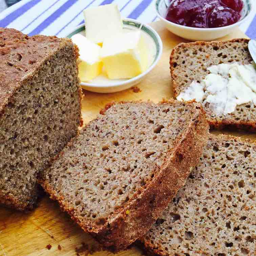
<svg viewBox="0 0 256 256"><path fill-rule="evenodd" d="M102 45L109 35L122 33L123 21L116 4L91 7L83 11L86 37L90 41Z"/></svg>

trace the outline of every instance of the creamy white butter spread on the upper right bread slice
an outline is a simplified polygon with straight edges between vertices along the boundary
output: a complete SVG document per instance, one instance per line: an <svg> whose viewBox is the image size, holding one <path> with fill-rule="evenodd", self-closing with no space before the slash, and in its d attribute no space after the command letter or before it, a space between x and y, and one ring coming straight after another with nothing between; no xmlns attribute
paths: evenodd
<svg viewBox="0 0 256 256"><path fill-rule="evenodd" d="M193 81L181 92L177 100L202 102L217 115L235 111L237 105L253 102L256 104L256 67L248 65L219 64L208 68L211 72L201 83Z"/></svg>

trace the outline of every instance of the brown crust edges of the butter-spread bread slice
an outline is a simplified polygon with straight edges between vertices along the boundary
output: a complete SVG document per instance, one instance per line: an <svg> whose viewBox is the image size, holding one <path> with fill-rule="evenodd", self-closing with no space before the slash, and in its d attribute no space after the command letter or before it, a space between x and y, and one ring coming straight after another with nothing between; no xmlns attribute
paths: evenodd
<svg viewBox="0 0 256 256"><path fill-rule="evenodd" d="M204 41L197 41L197 42L192 42L192 43L180 43L178 44L175 48L172 49L171 55L170 55L170 72L171 72L171 78L172 78L172 86L173 86L173 93L174 97L177 97L179 93L182 90L182 86L177 83L176 81L176 75L174 74L174 55L175 52L178 51L179 49L184 49L184 48L193 48L193 46L218 46L220 47L221 45L225 44L230 44L230 43L240 43L240 44L248 44L249 39L246 38L238 38L238 39L233 39L229 41L211 41L211 42L204 42ZM188 57L189 58L189 57ZM209 55L210 58L210 55ZM224 118L224 119L215 119L212 118L209 114L207 114L207 121L210 125L211 129L232 129L232 130L248 130L251 132L256 132L256 122L252 120L236 120L235 118Z"/></svg>

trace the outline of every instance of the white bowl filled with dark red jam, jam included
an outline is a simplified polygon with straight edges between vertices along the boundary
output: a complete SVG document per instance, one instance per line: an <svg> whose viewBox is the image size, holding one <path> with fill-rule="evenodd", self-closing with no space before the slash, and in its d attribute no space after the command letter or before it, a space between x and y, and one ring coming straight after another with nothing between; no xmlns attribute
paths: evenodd
<svg viewBox="0 0 256 256"><path fill-rule="evenodd" d="M252 11L252 0L156 0L158 17L172 33L210 41L230 34Z"/></svg>

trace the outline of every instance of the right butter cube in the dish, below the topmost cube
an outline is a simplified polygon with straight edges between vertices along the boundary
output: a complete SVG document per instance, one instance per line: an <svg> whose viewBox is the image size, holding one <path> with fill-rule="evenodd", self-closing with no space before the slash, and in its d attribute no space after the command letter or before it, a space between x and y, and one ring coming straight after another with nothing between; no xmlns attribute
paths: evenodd
<svg viewBox="0 0 256 256"><path fill-rule="evenodd" d="M141 31L119 33L106 38L101 58L110 79L133 78L148 67L148 47Z"/></svg>

